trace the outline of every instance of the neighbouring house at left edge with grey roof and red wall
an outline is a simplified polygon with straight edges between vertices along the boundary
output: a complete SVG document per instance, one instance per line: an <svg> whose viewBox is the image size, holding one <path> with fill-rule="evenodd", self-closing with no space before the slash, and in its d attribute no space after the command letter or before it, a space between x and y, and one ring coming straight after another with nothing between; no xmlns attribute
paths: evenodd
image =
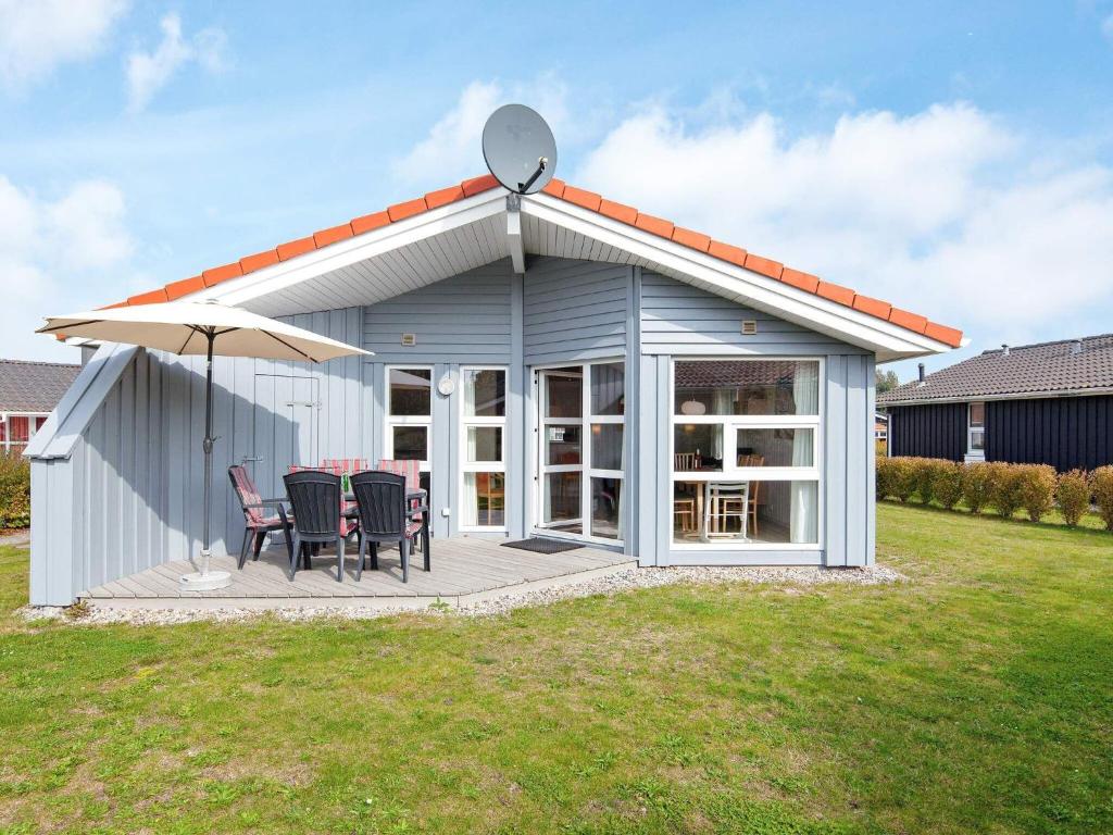
<svg viewBox="0 0 1113 835"><path fill-rule="evenodd" d="M0 452L23 451L80 370L80 365L0 360Z"/></svg>

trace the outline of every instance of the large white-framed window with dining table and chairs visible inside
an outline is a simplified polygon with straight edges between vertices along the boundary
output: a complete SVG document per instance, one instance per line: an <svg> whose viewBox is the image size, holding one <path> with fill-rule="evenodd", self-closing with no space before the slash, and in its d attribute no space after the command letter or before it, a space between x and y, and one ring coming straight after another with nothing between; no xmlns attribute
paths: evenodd
<svg viewBox="0 0 1113 835"><path fill-rule="evenodd" d="M820 362L673 364L673 542L819 544Z"/></svg>

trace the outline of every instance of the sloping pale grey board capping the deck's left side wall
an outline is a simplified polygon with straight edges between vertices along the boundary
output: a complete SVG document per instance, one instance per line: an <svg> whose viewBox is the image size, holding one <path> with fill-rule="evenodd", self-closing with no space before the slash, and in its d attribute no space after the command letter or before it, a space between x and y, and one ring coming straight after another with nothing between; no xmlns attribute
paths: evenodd
<svg viewBox="0 0 1113 835"><path fill-rule="evenodd" d="M58 401L47 422L31 438L23 450L23 456L51 459L72 455L81 433L139 350L135 345L116 343L105 343L97 348L97 353Z"/></svg>

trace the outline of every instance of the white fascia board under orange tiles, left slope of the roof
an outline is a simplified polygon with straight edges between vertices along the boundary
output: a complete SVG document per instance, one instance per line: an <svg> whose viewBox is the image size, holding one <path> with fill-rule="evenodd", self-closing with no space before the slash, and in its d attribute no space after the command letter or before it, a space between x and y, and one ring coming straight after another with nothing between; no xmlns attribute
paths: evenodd
<svg viewBox="0 0 1113 835"><path fill-rule="evenodd" d="M372 232L329 244L322 249L314 249L289 261L272 264L248 275L221 282L215 287L206 287L184 296L184 298L193 302L211 298L228 305L244 305L260 296L279 292L334 269L374 258L416 240L433 237L505 212L505 196L504 189L493 188Z"/></svg>

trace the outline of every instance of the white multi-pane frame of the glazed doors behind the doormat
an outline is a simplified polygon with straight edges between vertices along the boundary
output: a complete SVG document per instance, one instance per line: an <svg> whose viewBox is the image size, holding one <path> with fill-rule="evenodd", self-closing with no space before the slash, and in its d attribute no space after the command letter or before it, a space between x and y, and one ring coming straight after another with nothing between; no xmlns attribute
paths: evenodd
<svg viewBox="0 0 1113 835"><path fill-rule="evenodd" d="M622 414L592 414L591 413L591 366L592 365L622 365L623 376L622 376ZM534 508L535 518L533 520L532 533L552 537L553 539L572 539L583 542L597 542L604 546L622 547L626 544L624 539L611 538L611 537L597 537L588 531L591 530L591 480L592 479L614 479L621 482L620 491L626 492L626 471L623 470L603 470L597 466L592 466L591 461L591 428L594 424L609 423L612 425L621 425L622 429L622 446L626 449L627 444L627 410L630 407L629 380L626 377L626 357L612 356L603 357L598 360L579 360L571 362L561 363L549 363L545 365L534 365L533 371L533 403L536 410L536 426L538 426L538 439L535 444L534 455L536 456L535 472L536 472L536 490L534 493ZM556 369L572 369L579 367L581 370L581 382L580 382L580 396L582 397L580 405L580 416L579 418L545 418L544 415L544 394L541 391L540 381L541 372L554 371ZM579 425L580 426L580 463L579 464L546 464L545 461L545 438L548 432L545 431L550 425ZM552 528L546 528L541 521L542 509L544 508L544 489L545 489L545 475L553 472L580 472L581 483L580 483L580 533L571 533L569 531L558 531ZM629 497L628 497L629 498ZM621 500L620 500L621 504ZM620 512L622 508L620 507Z"/></svg>

